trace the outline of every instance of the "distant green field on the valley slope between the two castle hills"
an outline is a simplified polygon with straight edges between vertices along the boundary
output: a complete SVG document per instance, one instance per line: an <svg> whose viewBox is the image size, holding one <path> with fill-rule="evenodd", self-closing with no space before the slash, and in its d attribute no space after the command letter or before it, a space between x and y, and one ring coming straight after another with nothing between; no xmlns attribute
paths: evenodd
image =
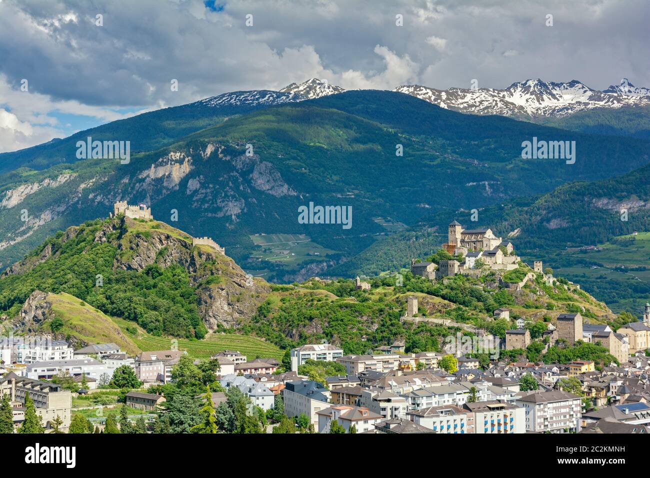
<svg viewBox="0 0 650 478"><path fill-rule="evenodd" d="M252 258L287 266L298 265L305 260L322 261L330 254L337 254L337 251L318 245L305 234L254 234L249 237L255 244ZM265 275L260 271L249 272L257 276Z"/></svg>

